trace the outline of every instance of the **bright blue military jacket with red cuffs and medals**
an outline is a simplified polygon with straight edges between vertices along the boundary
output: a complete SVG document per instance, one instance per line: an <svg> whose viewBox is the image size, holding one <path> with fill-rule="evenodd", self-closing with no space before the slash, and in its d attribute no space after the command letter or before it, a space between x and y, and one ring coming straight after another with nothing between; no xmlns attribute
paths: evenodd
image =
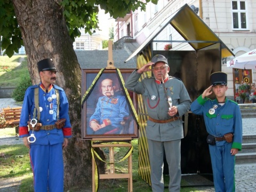
<svg viewBox="0 0 256 192"><path fill-rule="evenodd" d="M35 108L35 98L34 91L35 88L39 87L39 108L40 111L40 122L42 125L54 125L57 121L57 99L55 98L55 89L59 90L60 97L60 106L59 106L59 119L66 118L65 126L62 129L53 129L53 130L39 130L34 131L36 141L31 143L31 145L48 145L50 142L51 145L56 143L63 142L63 138L71 137L71 124L68 115L68 100L65 94L65 91L57 86L51 85L48 92L45 91L42 84L33 85L28 87L25 93L25 98L23 101L21 116L20 116L20 128L19 134L20 137L27 137L31 135L31 130L28 132L28 121L32 118L37 118L37 115L34 117L34 108ZM50 99L51 98L51 99ZM54 99L55 98L55 99ZM52 110L52 113L50 112Z"/></svg>

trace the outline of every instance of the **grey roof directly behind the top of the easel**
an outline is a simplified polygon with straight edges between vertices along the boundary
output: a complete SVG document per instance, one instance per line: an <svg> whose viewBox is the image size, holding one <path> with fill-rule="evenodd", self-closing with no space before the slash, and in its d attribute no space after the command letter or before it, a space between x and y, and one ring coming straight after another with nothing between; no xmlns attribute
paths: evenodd
<svg viewBox="0 0 256 192"><path fill-rule="evenodd" d="M75 50L75 53L81 69L102 69L107 67L108 50ZM125 50L113 50L114 66L118 69L135 69L137 67L135 58L124 63L127 57L129 57L129 53Z"/></svg>

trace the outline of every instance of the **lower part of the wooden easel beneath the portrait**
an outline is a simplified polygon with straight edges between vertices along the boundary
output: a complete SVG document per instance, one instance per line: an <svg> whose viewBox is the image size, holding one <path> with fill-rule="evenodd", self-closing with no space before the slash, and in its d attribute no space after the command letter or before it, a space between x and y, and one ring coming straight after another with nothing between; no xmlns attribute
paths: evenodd
<svg viewBox="0 0 256 192"><path fill-rule="evenodd" d="M124 141L132 140L132 138L93 138L93 141ZM114 147L132 147L130 143L110 143L110 144L92 144L92 147L109 147L110 174L99 174L99 179L128 179L128 192L132 192L132 154L128 157L128 173L115 173ZM95 160L92 158L92 191L95 192Z"/></svg>

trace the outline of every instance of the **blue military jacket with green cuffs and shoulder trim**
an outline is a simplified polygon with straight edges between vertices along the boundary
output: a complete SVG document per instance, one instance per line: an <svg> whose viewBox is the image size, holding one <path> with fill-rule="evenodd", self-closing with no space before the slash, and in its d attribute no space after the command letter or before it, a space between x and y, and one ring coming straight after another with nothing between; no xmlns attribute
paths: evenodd
<svg viewBox="0 0 256 192"><path fill-rule="evenodd" d="M214 108L214 113L209 110ZM232 148L242 149L242 115L236 102L226 99L221 106L217 99L202 98L200 95L192 104L191 111L204 116L206 131L216 137L223 137L226 133L234 133ZM217 146L225 145L227 141L217 141Z"/></svg>

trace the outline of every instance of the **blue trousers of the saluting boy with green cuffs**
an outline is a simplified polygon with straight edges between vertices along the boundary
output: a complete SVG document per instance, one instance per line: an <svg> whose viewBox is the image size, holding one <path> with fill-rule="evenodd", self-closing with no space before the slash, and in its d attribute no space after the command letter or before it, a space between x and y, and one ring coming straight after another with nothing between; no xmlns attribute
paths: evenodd
<svg viewBox="0 0 256 192"><path fill-rule="evenodd" d="M216 192L235 191L235 155L230 154L231 146L232 143L209 145Z"/></svg>

